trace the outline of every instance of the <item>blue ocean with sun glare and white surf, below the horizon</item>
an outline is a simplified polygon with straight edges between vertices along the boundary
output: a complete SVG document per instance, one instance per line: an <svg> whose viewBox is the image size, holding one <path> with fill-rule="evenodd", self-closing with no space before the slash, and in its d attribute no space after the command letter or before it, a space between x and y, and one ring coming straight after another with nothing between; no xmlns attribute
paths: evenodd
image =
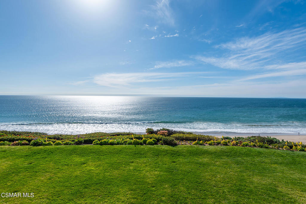
<svg viewBox="0 0 306 204"><path fill-rule="evenodd" d="M0 96L0 130L48 134L137 132L306 133L306 99Z"/></svg>

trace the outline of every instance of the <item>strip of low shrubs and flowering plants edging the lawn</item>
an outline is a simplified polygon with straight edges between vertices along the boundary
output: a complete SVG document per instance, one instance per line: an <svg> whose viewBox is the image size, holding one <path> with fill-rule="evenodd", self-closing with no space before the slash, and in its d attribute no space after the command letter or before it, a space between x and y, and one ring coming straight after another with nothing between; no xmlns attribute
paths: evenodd
<svg viewBox="0 0 306 204"><path fill-rule="evenodd" d="M52 146L52 145L231 145L241 147L273 148L305 151L302 142L280 141L273 137L223 137L193 134L172 129L154 130L148 128L147 135L132 133L89 133L82 135L47 135L45 133L0 131L0 146ZM155 134L157 133L157 134Z"/></svg>

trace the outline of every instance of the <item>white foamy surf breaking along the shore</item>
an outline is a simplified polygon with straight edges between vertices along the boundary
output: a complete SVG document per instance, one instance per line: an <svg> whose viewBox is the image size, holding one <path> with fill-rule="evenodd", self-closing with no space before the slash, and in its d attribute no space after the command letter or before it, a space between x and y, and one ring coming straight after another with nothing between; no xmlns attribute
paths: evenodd
<svg viewBox="0 0 306 204"><path fill-rule="evenodd" d="M2 130L34 131L48 134L83 134L92 132L144 133L147 128L169 128L203 134L226 133L306 133L306 123L282 122L282 124L243 124L218 122L39 122L0 124Z"/></svg>

